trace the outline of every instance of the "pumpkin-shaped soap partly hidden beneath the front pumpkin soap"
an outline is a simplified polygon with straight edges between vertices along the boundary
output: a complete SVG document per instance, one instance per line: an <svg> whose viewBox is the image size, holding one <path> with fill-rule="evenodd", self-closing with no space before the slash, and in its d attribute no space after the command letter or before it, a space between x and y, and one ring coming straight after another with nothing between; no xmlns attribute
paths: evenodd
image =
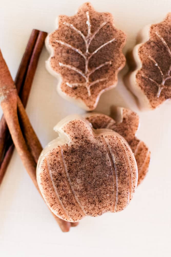
<svg viewBox="0 0 171 257"><path fill-rule="evenodd" d="M104 114L90 113L86 115L86 118L93 128L111 129L128 142L137 162L139 185L146 176L150 163L148 147L135 136L139 126L139 117L135 112L122 107L112 107L111 116L113 118Z"/></svg>

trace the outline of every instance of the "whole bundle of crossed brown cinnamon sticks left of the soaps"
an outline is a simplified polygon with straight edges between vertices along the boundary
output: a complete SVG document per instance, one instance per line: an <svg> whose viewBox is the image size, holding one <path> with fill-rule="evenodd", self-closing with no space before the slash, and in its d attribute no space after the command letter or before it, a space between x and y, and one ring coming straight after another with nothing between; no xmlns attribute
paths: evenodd
<svg viewBox="0 0 171 257"><path fill-rule="evenodd" d="M42 146L24 108L46 35L46 32L32 31L15 82L0 50L0 100L4 113L0 122L0 184L15 145L24 167L38 191L36 165ZM78 224L64 221L54 214L53 216L63 232L69 231L71 226Z"/></svg>

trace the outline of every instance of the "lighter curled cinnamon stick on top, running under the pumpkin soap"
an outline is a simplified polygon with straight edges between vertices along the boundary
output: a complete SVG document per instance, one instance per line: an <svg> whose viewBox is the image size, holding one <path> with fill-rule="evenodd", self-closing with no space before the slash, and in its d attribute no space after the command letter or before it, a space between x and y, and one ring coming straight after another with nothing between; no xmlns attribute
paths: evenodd
<svg viewBox="0 0 171 257"><path fill-rule="evenodd" d="M31 127L31 124L25 113L25 109L21 103L20 98L18 97L17 90L9 73L8 67L1 53L0 70L2 74L0 78L0 98L4 117L23 164L30 177L32 178L36 188L38 189L36 181L36 160L40 153L41 145L33 128ZM21 130L19 120L22 122L23 131L25 133ZM29 145L30 138L32 138L32 140L35 142L32 145ZM65 232L69 231L71 226L76 226L78 224L71 224L70 222L63 221L54 214L53 216L55 217L62 231Z"/></svg>

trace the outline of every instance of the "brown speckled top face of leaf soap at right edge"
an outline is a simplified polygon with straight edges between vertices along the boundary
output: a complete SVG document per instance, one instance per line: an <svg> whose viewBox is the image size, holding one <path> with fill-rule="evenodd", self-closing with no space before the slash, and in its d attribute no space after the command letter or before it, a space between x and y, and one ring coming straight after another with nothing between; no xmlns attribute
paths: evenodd
<svg viewBox="0 0 171 257"><path fill-rule="evenodd" d="M149 30L149 40L138 49L142 68L136 73L136 83L156 108L171 98L171 13Z"/></svg>

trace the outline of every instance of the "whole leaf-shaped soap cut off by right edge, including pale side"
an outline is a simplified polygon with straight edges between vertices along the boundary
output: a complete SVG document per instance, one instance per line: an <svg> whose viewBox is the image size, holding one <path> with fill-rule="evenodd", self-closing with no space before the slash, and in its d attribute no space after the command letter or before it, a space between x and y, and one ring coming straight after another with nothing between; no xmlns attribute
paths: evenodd
<svg viewBox="0 0 171 257"><path fill-rule="evenodd" d="M136 70L125 82L140 108L154 109L171 98L171 13L164 21L145 27L140 41L133 50Z"/></svg>

